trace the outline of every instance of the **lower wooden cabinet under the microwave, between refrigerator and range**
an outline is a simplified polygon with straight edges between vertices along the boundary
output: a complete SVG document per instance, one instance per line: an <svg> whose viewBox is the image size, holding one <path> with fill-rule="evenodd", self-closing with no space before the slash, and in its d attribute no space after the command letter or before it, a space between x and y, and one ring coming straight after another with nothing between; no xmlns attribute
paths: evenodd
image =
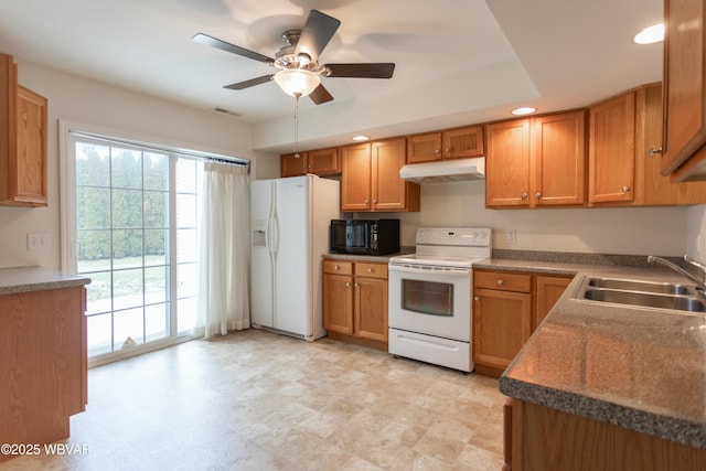
<svg viewBox="0 0 706 471"><path fill-rule="evenodd" d="M323 324L330 336L386 350L387 264L324 260Z"/></svg>

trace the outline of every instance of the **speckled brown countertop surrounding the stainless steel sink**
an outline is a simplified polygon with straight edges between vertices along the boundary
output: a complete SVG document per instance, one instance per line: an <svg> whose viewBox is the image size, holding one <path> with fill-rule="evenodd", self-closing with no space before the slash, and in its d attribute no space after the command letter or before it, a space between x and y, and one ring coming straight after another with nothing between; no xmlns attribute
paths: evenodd
<svg viewBox="0 0 706 471"><path fill-rule="evenodd" d="M706 449L706 315L574 299L586 277L692 285L687 278L646 257L495 256L474 268L575 275L501 376L503 394Z"/></svg>

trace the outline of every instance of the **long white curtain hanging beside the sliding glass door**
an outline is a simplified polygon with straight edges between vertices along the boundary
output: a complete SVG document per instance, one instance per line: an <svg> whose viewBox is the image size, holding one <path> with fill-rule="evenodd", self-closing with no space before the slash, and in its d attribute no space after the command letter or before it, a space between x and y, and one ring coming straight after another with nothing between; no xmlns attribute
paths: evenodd
<svg viewBox="0 0 706 471"><path fill-rule="evenodd" d="M199 320L205 338L250 327L250 191L247 168L204 164Z"/></svg>

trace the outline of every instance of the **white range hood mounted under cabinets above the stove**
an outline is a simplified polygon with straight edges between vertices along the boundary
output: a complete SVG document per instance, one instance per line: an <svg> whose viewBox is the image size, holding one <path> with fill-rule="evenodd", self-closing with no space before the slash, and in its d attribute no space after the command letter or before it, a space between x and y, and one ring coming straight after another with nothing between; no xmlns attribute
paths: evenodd
<svg viewBox="0 0 706 471"><path fill-rule="evenodd" d="M399 169L399 176L415 183L443 183L485 178L485 158L440 160L410 163Z"/></svg>

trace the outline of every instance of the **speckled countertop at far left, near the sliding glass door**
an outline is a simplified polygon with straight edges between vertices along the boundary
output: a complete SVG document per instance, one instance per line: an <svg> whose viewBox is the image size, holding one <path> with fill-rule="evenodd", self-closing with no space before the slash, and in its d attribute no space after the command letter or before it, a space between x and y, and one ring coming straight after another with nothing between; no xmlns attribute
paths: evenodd
<svg viewBox="0 0 706 471"><path fill-rule="evenodd" d="M88 285L90 278L41 267L0 269L0 296Z"/></svg>

